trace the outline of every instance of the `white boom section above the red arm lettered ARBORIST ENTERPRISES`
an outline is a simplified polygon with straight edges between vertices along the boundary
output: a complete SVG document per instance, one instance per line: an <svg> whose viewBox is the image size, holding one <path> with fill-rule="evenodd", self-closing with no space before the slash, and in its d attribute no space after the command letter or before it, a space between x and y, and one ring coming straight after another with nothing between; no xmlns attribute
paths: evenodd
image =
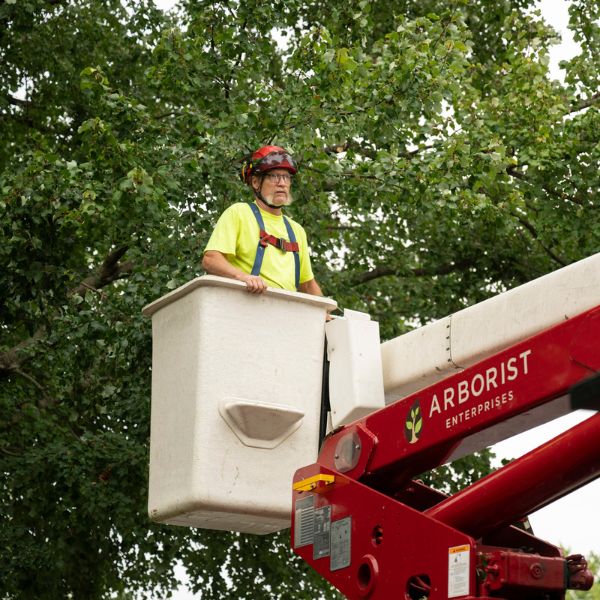
<svg viewBox="0 0 600 600"><path fill-rule="evenodd" d="M390 404L600 305L600 253L381 345Z"/></svg>

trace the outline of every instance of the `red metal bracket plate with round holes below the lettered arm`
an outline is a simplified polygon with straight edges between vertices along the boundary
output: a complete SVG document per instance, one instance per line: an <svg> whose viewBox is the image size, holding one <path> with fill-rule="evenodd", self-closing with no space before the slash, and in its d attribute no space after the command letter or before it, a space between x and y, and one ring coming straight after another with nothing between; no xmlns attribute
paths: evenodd
<svg viewBox="0 0 600 600"><path fill-rule="evenodd" d="M308 478L317 472L329 470L313 465L301 469L298 477ZM310 495L296 492L294 496L302 501ZM331 507L332 523L351 519L350 565L332 571L331 556L315 558L313 545L294 550L351 600L410 598L411 586L418 585L416 578L429 582L430 600L447 600L448 577L444 572L449 549L466 547L471 560L475 555L476 543L471 537L343 475L337 474L326 493L313 497L315 509ZM296 526L293 519L292 539ZM475 571L468 576L469 587L475 590Z"/></svg>

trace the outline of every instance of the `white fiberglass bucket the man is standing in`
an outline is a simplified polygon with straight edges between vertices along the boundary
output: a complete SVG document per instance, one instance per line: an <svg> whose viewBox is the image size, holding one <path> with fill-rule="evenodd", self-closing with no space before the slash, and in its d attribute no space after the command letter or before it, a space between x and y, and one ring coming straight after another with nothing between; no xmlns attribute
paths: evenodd
<svg viewBox="0 0 600 600"><path fill-rule="evenodd" d="M153 520L259 534L289 527L293 474L317 457L325 316L335 307L207 275L144 308Z"/></svg>

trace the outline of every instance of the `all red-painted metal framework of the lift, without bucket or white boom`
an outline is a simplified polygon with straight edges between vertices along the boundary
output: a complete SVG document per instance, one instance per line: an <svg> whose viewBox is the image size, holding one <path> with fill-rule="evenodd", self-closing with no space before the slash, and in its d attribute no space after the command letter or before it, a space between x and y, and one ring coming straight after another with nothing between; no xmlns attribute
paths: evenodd
<svg viewBox="0 0 600 600"><path fill-rule="evenodd" d="M294 492L294 551L357 600L562 600L591 586L584 559L510 524L600 476L600 415L450 498L413 478L568 412L570 388L600 371L599 340L600 307L333 432L294 477L335 476ZM317 552L312 517L335 529L330 548Z"/></svg>

